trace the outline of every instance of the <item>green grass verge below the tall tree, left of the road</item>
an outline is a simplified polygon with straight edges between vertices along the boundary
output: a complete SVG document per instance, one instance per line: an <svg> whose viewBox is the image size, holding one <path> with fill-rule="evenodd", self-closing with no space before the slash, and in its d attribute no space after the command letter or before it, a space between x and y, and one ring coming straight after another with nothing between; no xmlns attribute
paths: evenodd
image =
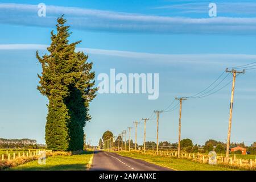
<svg viewBox="0 0 256 182"><path fill-rule="evenodd" d="M88 151L80 155L56 155L46 158L46 164L38 164L38 160L22 164L20 166L9 168L7 170L16 171L84 171L89 163L93 152Z"/></svg>

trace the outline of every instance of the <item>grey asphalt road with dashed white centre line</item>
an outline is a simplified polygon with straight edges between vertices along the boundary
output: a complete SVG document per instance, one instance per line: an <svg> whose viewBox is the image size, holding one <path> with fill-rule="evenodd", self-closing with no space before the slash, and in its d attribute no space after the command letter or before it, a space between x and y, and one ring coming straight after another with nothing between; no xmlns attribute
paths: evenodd
<svg viewBox="0 0 256 182"><path fill-rule="evenodd" d="M91 171L171 171L143 160L133 159L112 152L94 151Z"/></svg>

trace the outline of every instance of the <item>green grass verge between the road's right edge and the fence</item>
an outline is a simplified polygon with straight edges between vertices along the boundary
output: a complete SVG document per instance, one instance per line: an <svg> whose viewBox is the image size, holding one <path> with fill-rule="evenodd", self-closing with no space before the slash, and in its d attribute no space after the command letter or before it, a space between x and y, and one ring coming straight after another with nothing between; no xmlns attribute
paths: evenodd
<svg viewBox="0 0 256 182"><path fill-rule="evenodd" d="M123 156L129 156L135 159L141 159L146 162L158 164L159 166L164 166L176 170L183 171L230 171L234 169L221 167L221 166L212 166L209 164L201 164L193 162L187 159L175 159L162 156L152 156L152 155L143 155L138 152L117 152Z"/></svg>

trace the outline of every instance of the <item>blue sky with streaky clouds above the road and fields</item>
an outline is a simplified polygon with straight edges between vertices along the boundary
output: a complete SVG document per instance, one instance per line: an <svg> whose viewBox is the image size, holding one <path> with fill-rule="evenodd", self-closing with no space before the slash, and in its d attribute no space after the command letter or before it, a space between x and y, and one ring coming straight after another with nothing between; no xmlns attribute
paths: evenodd
<svg viewBox="0 0 256 182"><path fill-rule="evenodd" d="M39 17L38 4L47 6ZM47 98L36 90L41 72L35 51L46 52L56 18L65 14L71 42L88 53L96 75L159 73L159 98L146 94L98 94L90 105L93 119L85 132L97 144L106 130L120 133L133 121L167 107L175 96L206 88L226 67L256 60L256 1L1 1L0 3L0 137L32 138L44 143ZM256 82L251 70L237 78L233 142L256 139ZM231 77L228 77L230 80ZM203 144L225 141L230 86L183 105L181 138ZM160 115L159 139L177 141L178 110ZM134 139L134 129L131 135ZM142 143L143 125L138 127ZM156 121L147 123L147 140L156 139Z"/></svg>

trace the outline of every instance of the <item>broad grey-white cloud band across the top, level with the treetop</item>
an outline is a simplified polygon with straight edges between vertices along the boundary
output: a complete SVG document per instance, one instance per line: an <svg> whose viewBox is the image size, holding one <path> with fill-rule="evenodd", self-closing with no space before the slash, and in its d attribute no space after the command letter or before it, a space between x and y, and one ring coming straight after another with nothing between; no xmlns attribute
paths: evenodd
<svg viewBox="0 0 256 182"><path fill-rule="evenodd" d="M36 5L0 3L0 23L53 27L65 14L79 30L149 32L165 34L256 34L256 18L184 18L47 6L47 16Z"/></svg>

